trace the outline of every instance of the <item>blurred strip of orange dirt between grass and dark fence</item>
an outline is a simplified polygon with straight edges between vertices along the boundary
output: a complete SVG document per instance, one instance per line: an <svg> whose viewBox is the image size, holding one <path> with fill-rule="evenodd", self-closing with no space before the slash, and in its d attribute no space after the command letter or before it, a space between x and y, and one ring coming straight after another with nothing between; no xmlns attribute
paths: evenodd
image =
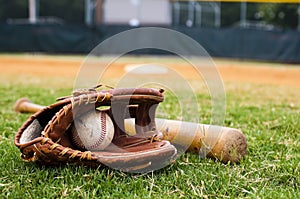
<svg viewBox="0 0 300 199"><path fill-rule="evenodd" d="M114 64L112 77L125 73L128 64L141 63L143 58L120 60ZM168 58L164 59L166 62ZM147 61L151 59L146 58ZM75 78L80 69L84 57L73 56L43 56L43 55L1 55L1 76L16 76L20 74L38 77L69 77ZM158 58L155 58L158 62ZM279 63L246 62L226 59L214 60L218 70L226 82L250 82L271 85L283 85L300 88L300 66ZM170 65L183 70L185 74L193 74L190 67L184 67L184 63L176 63L171 60Z"/></svg>

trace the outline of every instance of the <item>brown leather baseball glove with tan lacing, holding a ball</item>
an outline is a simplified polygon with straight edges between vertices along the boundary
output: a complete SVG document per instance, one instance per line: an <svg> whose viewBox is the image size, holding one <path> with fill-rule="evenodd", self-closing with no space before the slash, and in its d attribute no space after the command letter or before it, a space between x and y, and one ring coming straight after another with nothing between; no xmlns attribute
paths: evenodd
<svg viewBox="0 0 300 199"><path fill-rule="evenodd" d="M21 158L44 165L105 165L125 172L149 172L173 161L176 148L161 140L155 129L155 110L164 99L162 90L127 88L73 92L32 115L19 129L15 145ZM76 147L71 126L89 111L107 113L114 126L111 144L103 150ZM135 118L136 135L129 136L124 120Z"/></svg>

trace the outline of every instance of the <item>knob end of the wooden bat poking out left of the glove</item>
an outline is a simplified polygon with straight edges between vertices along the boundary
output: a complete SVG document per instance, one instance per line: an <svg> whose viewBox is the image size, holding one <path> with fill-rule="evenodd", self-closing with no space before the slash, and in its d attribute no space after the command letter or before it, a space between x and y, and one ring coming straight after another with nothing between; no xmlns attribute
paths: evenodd
<svg viewBox="0 0 300 199"><path fill-rule="evenodd" d="M14 105L14 111L18 113L36 113L45 106L34 104L28 98L20 98Z"/></svg>

